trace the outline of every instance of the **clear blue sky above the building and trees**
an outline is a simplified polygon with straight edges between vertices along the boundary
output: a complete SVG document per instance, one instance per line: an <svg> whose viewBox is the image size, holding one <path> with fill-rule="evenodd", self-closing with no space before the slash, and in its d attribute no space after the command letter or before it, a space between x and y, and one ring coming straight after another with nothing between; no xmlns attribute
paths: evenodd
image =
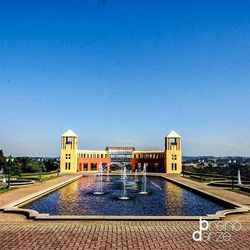
<svg viewBox="0 0 250 250"><path fill-rule="evenodd" d="M250 156L250 2L0 0L0 148Z"/></svg>

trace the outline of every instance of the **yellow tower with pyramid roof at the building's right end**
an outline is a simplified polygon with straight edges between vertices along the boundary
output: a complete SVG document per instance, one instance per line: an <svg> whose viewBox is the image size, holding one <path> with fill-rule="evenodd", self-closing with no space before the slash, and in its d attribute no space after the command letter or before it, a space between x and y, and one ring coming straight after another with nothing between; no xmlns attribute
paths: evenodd
<svg viewBox="0 0 250 250"><path fill-rule="evenodd" d="M165 168L167 174L180 174L182 171L181 136L174 130L165 137Z"/></svg>

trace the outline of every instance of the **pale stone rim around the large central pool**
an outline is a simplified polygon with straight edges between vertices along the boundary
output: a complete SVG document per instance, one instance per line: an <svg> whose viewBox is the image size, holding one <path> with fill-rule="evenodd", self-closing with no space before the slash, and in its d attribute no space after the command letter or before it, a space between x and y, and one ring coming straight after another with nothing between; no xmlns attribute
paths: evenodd
<svg viewBox="0 0 250 250"><path fill-rule="evenodd" d="M206 196L212 199L215 199L219 202L223 202L225 204L230 204L234 206L232 209L225 209L225 210L219 210L215 214L207 214L203 216L107 216L107 215L49 215L49 214L42 214L39 213L36 210L26 209L26 208L20 208L20 206L23 206L25 204L28 204L36 199L39 199L40 197L43 197L44 195L47 195L61 187L64 187L83 176L91 176L91 175L78 175L76 177L71 178L70 180L67 180L65 182L59 183L57 185L51 186L49 188L43 189L39 192L33 193L31 195L25 196L15 202L9 203L4 207L0 208L0 211L6 212L6 213L18 213L25 215L28 219L33 220L49 220L49 221L58 221L58 220L72 220L72 221L81 221L81 220L123 220L123 221L197 221L199 218L203 218L206 220L221 220L225 218L226 215L229 214L235 214L235 213L244 213L249 212L250 209L246 206L243 206L241 204L238 204L236 202L227 200L223 197L211 194L209 192L206 192L204 190L197 189L195 187L188 186L184 183L181 183L177 180L172 179L169 176L166 176L164 174L158 173L158 174L148 174L149 176L156 176L164 178L170 182L175 183L178 186L184 187L189 190L193 190L197 193L200 193L202 196Z"/></svg>

